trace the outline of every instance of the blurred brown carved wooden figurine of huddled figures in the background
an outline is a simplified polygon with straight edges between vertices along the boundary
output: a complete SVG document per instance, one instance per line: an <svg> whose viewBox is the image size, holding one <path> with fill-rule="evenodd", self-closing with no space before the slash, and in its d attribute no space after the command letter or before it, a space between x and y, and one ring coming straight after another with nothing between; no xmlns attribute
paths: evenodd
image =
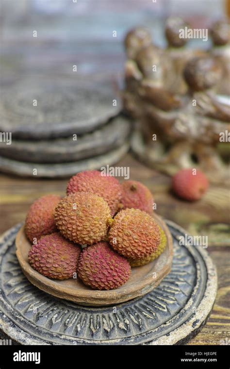
<svg viewBox="0 0 230 369"><path fill-rule="evenodd" d="M174 29L181 26L177 20L171 28L166 27L169 43L179 48L184 42L180 44ZM149 43L147 31L141 34L138 50L127 52L132 59L126 63L123 94L125 109L136 119L133 150L152 167L169 174L195 166L211 180L225 181L226 165L216 150L220 134L230 130L230 106L215 92L224 73L222 63L203 52L191 58L190 51L181 73L185 59L179 69L170 66L169 51ZM129 45L131 37L136 37L135 31L129 34ZM174 84L183 81L186 93L179 93L180 88L173 91L170 73L176 74Z"/></svg>

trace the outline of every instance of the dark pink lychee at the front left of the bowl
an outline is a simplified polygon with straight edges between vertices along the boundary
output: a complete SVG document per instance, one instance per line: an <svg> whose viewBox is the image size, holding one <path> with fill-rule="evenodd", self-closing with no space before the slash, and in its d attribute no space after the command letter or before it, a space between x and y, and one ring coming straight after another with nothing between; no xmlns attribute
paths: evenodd
<svg viewBox="0 0 230 369"><path fill-rule="evenodd" d="M59 232L43 236L28 254L29 263L51 279L68 279L77 272L81 252L79 245L66 240Z"/></svg>

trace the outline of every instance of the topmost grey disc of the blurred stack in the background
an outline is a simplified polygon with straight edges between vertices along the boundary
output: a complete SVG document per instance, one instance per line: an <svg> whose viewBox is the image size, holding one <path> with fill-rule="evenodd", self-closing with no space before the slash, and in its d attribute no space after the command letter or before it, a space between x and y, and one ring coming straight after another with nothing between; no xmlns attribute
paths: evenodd
<svg viewBox="0 0 230 369"><path fill-rule="evenodd" d="M28 78L3 87L1 95L0 132L11 132L13 139L84 134L120 111L112 83L77 78Z"/></svg>

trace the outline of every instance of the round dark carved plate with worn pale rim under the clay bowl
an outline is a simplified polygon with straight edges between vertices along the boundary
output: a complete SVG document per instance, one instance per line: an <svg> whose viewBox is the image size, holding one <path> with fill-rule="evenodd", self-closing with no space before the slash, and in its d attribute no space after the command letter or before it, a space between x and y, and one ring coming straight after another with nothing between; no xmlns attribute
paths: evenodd
<svg viewBox="0 0 230 369"><path fill-rule="evenodd" d="M171 272L153 291L109 307L80 306L51 297L24 276L15 253L21 224L0 239L0 329L21 344L185 344L205 324L217 276L207 251L181 246L173 236Z"/></svg>

